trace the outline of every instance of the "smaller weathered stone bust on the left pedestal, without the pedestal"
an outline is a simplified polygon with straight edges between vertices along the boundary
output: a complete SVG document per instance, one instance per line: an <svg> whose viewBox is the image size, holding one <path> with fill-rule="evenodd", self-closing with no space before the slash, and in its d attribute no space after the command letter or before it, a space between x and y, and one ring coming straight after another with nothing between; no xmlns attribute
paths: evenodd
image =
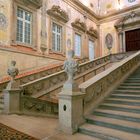
<svg viewBox="0 0 140 140"><path fill-rule="evenodd" d="M7 70L8 75L11 77L11 80L8 83L7 88L6 88L8 90L18 87L18 84L15 81L15 77L18 75L19 70L15 66L16 66L16 61L11 61L11 65L9 66Z"/></svg>

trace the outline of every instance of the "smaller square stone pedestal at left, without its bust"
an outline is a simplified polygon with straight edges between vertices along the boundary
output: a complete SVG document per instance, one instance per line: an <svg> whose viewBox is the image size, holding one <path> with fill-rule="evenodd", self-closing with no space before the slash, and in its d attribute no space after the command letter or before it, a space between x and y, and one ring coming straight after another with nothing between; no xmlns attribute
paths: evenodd
<svg viewBox="0 0 140 140"><path fill-rule="evenodd" d="M20 113L20 89L4 90L4 113Z"/></svg>

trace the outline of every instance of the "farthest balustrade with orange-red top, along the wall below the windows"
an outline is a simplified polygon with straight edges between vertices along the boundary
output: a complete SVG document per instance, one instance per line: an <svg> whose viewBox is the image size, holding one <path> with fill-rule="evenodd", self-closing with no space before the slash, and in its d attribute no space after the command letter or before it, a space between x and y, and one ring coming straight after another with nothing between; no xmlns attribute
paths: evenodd
<svg viewBox="0 0 140 140"><path fill-rule="evenodd" d="M81 64L81 63L88 61L88 58L79 59L77 61L79 64ZM41 77L51 75L53 73L56 73L56 72L59 72L62 70L63 70L63 63L58 63L58 64L55 64L55 66L42 67L42 68L39 68L39 69L36 69L33 71L26 72L25 74L24 73L20 74L16 77L15 80L19 85L23 85L23 84L28 83L30 81L34 81L34 80L39 79ZM4 82L0 81L0 91L5 89L9 80L10 80L10 78L8 77Z"/></svg>

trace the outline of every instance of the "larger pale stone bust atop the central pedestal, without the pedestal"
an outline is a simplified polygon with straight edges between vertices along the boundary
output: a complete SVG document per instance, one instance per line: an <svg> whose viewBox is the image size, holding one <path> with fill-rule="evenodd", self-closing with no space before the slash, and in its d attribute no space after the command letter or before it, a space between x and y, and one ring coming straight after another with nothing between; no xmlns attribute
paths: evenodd
<svg viewBox="0 0 140 140"><path fill-rule="evenodd" d="M66 83L73 83L73 78L78 70L78 63L73 59L74 57L74 50L68 51L68 59L64 62L64 70L68 75L68 80Z"/></svg>

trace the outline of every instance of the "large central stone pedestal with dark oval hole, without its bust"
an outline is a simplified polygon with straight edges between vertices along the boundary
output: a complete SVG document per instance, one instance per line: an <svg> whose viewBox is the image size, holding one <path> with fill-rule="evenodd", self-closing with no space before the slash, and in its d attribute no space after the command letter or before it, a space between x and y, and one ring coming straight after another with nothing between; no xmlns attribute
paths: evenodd
<svg viewBox="0 0 140 140"><path fill-rule="evenodd" d="M73 134L85 122L83 118L84 94L78 91L75 84L66 83L59 94L59 128Z"/></svg>

